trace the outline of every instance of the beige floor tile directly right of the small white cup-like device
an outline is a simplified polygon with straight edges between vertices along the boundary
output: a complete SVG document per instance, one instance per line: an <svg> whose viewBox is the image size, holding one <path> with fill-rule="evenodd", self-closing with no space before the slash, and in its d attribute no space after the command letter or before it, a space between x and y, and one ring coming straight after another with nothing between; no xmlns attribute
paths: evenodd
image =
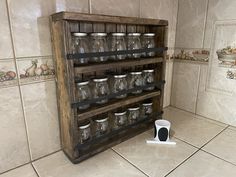
<svg viewBox="0 0 236 177"><path fill-rule="evenodd" d="M171 122L174 137L197 147L203 146L227 126L172 107L164 110L163 118Z"/></svg>

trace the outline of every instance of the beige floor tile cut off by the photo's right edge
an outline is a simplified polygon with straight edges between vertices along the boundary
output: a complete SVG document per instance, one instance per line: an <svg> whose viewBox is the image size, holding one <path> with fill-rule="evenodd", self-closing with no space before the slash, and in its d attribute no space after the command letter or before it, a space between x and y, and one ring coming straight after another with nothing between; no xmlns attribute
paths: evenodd
<svg viewBox="0 0 236 177"><path fill-rule="evenodd" d="M236 129L226 129L203 149L236 165Z"/></svg>

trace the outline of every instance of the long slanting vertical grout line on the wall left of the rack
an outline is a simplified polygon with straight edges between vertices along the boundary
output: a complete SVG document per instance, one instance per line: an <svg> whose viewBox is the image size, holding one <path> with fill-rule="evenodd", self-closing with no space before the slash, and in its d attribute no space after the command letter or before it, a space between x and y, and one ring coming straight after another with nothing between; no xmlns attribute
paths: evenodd
<svg viewBox="0 0 236 177"><path fill-rule="evenodd" d="M14 39L13 39L13 30L12 30L12 23L11 23L11 18L10 18L10 9L9 9L8 1L5 0L5 2L6 2L6 8L7 8L7 17L8 17L8 24L9 24L9 30L10 30L10 38L11 38L11 44L12 44L13 57L14 57L14 64L15 64L15 69L16 69L16 73L17 73L17 84L18 84L18 90L19 90L20 101L21 101L24 128L25 128L25 133L26 133L27 146L28 146L28 150L29 150L28 155L29 155L29 161L30 161L31 160L31 149L30 149L29 136L28 136L29 132L28 132L27 122L26 122L26 113L25 113L25 109L24 109L23 94L22 94L22 90L20 87L19 71L18 71L18 66L17 66L17 62L16 62L16 49L15 49Z"/></svg>

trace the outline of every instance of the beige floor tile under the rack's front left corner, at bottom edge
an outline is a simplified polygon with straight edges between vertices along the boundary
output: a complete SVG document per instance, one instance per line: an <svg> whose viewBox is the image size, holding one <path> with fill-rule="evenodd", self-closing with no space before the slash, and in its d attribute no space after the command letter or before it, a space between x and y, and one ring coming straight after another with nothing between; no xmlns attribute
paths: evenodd
<svg viewBox="0 0 236 177"><path fill-rule="evenodd" d="M80 164L72 164L63 152L33 163L40 177L143 177L138 169L112 150L100 153Z"/></svg>

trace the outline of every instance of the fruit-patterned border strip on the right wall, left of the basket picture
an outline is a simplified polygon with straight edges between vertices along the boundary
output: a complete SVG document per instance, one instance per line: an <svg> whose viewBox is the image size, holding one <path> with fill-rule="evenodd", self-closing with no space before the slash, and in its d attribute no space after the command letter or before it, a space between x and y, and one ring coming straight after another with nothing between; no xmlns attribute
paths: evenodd
<svg viewBox="0 0 236 177"><path fill-rule="evenodd" d="M179 60L209 61L210 52L207 49L175 49L174 58Z"/></svg>

